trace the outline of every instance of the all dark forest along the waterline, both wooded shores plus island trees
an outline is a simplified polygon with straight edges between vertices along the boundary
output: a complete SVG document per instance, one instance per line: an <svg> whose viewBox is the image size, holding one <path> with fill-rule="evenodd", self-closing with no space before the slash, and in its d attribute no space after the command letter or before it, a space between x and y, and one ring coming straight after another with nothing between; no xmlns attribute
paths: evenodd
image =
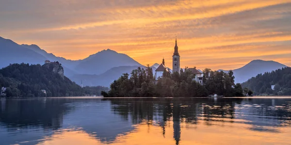
<svg viewBox="0 0 291 145"><path fill-rule="evenodd" d="M60 66L61 67L61 64ZM61 69L63 71L63 69ZM157 81L151 67L124 73L108 87L80 87L60 72L53 73L44 65L11 64L0 69L0 88L6 87L6 97L64 97L103 95L104 97L225 97L291 95L291 68L258 74L242 84L235 84L232 71L227 73L203 70L203 85L185 68L180 74L164 71ZM61 72L63 73L63 72ZM272 89L272 86L274 89ZM44 93L42 90L46 90Z"/></svg>

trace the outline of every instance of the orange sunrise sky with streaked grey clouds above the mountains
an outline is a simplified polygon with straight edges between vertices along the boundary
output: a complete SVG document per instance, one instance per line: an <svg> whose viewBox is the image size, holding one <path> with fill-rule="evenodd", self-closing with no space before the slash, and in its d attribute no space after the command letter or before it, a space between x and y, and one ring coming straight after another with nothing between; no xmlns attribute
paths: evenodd
<svg viewBox="0 0 291 145"><path fill-rule="evenodd" d="M103 49L143 65L291 66L291 0L0 0L0 36L83 59Z"/></svg>

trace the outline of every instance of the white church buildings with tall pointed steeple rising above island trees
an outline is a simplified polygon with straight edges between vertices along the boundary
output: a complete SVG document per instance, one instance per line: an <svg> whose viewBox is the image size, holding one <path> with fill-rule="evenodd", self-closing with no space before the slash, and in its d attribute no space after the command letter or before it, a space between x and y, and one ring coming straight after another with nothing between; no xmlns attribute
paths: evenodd
<svg viewBox="0 0 291 145"><path fill-rule="evenodd" d="M178 45L177 45L177 38L176 38L176 43L175 43L175 47L174 47L174 54L172 56L173 60L173 71L172 73L178 72L179 74L180 72L180 55L178 52ZM166 66L165 66L165 60L164 58L162 58L162 63L160 64L160 66L156 69L155 71L155 79L158 80L159 78L162 77L162 73L164 72L164 70L166 71L170 71ZM203 85L203 81L202 81L202 77L203 77L203 73L200 70L196 70L196 68L189 68L189 70L195 74L195 78L194 80L197 83L200 83L201 85Z"/></svg>

